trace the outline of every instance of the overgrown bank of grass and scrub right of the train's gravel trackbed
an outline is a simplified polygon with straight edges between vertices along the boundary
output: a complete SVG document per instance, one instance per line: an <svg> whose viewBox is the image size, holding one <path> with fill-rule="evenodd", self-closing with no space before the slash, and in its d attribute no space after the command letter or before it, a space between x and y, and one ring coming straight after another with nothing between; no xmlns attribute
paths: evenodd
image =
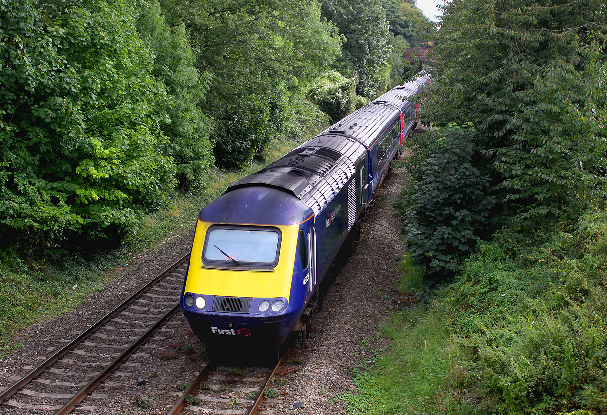
<svg viewBox="0 0 607 415"><path fill-rule="evenodd" d="M395 313L354 413L607 411L607 213L498 233L426 305ZM415 285L413 281L407 284Z"/></svg>

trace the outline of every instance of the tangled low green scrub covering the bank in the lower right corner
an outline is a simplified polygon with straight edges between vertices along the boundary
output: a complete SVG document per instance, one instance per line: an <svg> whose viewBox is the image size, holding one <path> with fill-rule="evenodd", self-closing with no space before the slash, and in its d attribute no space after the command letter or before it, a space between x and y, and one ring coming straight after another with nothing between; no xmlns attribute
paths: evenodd
<svg viewBox="0 0 607 415"><path fill-rule="evenodd" d="M458 402L495 415L606 413L606 223L590 213L540 244L506 230L463 265L446 294L466 367Z"/></svg>

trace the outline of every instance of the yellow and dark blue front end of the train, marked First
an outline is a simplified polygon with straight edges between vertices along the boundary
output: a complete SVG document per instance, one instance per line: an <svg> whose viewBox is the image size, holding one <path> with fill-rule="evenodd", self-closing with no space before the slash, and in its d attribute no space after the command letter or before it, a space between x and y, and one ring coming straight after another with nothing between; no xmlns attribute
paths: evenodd
<svg viewBox="0 0 607 415"><path fill-rule="evenodd" d="M198 216L181 310L208 346L274 347L308 300L299 236L309 207L271 187L229 191Z"/></svg>

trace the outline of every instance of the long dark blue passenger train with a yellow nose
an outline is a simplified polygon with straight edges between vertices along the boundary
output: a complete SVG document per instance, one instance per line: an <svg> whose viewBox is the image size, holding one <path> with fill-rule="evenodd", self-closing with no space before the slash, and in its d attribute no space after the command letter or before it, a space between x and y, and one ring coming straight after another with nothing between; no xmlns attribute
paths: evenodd
<svg viewBox="0 0 607 415"><path fill-rule="evenodd" d="M308 336L319 287L384 180L430 77L393 88L200 211L180 306L208 347Z"/></svg>

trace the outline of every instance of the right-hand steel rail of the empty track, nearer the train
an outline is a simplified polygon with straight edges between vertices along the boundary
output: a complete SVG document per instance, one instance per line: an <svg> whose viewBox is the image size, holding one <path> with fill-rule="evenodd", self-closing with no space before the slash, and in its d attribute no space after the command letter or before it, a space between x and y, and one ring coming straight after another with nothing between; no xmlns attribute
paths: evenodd
<svg viewBox="0 0 607 415"><path fill-rule="evenodd" d="M133 342L129 347L127 347L126 350L124 350L120 354L120 356L114 359L112 363L107 365L97 376L93 377L93 379L90 380L90 382L87 383L87 385L82 388L80 392L78 392L72 399L69 400L69 402L67 402L65 405L63 405L63 407L56 411L55 415L67 415L72 412L72 410L76 407L76 405L78 405L78 403L86 399L86 397L89 396L89 394L93 390L95 390L95 388L97 388L98 385L103 382L107 376L110 376L112 371L120 367L120 365L124 363L124 360L131 356L131 354L134 353L135 350L137 350L141 346L141 344L148 340L148 338L152 336L152 334L154 334L156 330L162 327L166 320L170 319L173 314L177 312L177 310L179 310L179 302L176 302L175 305L171 308L171 310L164 313L164 315L160 317L160 319L158 319L157 322L155 322L154 325L152 325L148 329L148 331L146 331L146 333L141 334L141 336L139 336L139 338L135 340L135 342Z"/></svg>

